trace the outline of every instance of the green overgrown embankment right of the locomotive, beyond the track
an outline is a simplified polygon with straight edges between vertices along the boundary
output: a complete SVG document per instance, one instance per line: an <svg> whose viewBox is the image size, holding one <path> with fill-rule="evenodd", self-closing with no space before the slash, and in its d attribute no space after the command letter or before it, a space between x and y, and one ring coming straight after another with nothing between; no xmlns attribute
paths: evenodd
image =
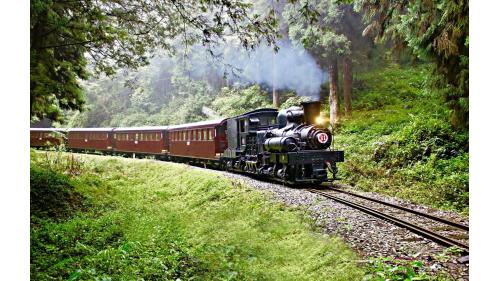
<svg viewBox="0 0 500 281"><path fill-rule="evenodd" d="M455 130L425 66L355 77L353 116L336 128L343 182L429 206L469 210L469 136Z"/></svg>

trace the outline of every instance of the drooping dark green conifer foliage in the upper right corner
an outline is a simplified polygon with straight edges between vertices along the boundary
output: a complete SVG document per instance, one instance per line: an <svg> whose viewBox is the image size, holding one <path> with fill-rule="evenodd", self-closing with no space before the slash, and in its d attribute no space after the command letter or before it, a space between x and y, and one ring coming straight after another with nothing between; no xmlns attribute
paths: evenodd
<svg viewBox="0 0 500 281"><path fill-rule="evenodd" d="M440 88L452 109L451 123L468 126L469 1L468 0L356 0L369 25L365 34L394 40L413 54L431 59L441 78Z"/></svg>

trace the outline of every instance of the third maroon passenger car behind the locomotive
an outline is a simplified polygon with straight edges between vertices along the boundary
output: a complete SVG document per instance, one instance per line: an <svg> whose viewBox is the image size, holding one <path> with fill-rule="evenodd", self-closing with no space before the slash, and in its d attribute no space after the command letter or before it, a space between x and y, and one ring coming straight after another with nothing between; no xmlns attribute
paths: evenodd
<svg viewBox="0 0 500 281"><path fill-rule="evenodd" d="M68 129L68 147L76 150L112 151L113 128Z"/></svg>

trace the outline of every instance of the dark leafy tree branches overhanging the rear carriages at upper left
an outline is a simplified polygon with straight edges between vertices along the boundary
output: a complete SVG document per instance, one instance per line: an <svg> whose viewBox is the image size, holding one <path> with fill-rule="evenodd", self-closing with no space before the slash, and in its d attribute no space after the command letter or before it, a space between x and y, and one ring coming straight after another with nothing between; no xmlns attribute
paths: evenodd
<svg viewBox="0 0 500 281"><path fill-rule="evenodd" d="M244 1L32 0L30 115L61 120L85 102L79 80L148 63L157 49L236 38L252 49L276 39L274 10L253 13Z"/></svg>

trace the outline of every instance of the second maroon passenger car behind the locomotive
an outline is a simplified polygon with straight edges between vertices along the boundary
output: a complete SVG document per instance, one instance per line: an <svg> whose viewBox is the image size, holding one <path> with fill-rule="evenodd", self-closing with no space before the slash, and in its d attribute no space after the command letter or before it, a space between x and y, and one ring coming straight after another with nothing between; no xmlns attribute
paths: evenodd
<svg viewBox="0 0 500 281"><path fill-rule="evenodd" d="M168 126L116 128L113 130L116 152L167 155Z"/></svg>

